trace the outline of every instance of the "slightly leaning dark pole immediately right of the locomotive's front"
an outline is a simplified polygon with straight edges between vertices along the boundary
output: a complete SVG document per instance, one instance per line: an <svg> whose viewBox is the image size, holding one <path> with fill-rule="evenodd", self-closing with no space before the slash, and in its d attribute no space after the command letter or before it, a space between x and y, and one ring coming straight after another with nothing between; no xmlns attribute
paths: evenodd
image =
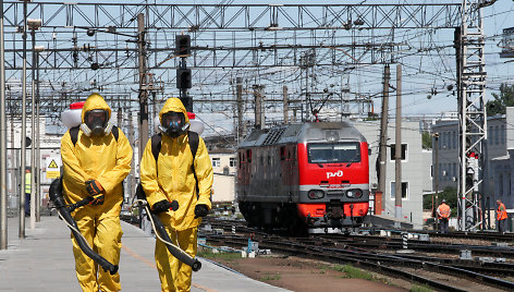
<svg viewBox="0 0 514 292"><path fill-rule="evenodd" d="M389 64L383 68L382 117L380 119L379 178L378 190L386 196L386 170L388 156L388 111L389 111ZM384 199L386 200L386 199Z"/></svg>

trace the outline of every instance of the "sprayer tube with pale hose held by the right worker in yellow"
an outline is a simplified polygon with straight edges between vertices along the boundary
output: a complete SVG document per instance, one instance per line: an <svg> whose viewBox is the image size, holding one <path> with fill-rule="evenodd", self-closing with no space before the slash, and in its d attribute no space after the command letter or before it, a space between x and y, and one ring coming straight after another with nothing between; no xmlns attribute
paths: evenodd
<svg viewBox="0 0 514 292"><path fill-rule="evenodd" d="M170 254L176 257L176 259L192 267L194 271L198 271L201 268L201 263L196 257L192 257L191 255L182 251L182 248L171 242L170 234L168 234L168 231L166 231L164 224L159 219L159 217L148 207L146 194L140 184L137 185L136 196L136 203L145 207L146 214L148 215L148 218L151 222L151 227L154 228L154 231L156 233L156 238L166 244L166 247L168 248ZM179 204L176 204L176 202L174 200L172 203L171 208L172 210L179 209Z"/></svg>

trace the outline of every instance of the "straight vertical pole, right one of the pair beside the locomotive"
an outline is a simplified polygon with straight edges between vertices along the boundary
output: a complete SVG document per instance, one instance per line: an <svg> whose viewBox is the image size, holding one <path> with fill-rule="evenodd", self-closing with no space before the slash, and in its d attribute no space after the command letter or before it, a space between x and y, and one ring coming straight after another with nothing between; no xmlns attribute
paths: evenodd
<svg viewBox="0 0 514 292"><path fill-rule="evenodd" d="M396 64L396 123L394 145L394 217L402 219L402 64ZM400 221L394 222L401 228Z"/></svg>

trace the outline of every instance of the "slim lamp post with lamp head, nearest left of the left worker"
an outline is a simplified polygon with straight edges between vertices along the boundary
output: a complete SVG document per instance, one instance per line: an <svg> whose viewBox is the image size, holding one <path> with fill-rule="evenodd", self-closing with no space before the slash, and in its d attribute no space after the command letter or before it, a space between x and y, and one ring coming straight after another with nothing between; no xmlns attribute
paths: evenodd
<svg viewBox="0 0 514 292"><path fill-rule="evenodd" d="M36 31L41 27L41 20L27 20L32 38L32 86L30 86L30 229L36 228L37 194L34 181L39 181L39 169L36 169ZM37 131L39 132L39 131ZM39 133L38 133L39 134ZM37 157L37 159L39 159Z"/></svg>

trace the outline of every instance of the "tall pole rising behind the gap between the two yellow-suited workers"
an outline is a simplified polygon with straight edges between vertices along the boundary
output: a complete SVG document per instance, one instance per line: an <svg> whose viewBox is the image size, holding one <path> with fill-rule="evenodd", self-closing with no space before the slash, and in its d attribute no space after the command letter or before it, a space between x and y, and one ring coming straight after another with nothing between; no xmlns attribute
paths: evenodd
<svg viewBox="0 0 514 292"><path fill-rule="evenodd" d="M143 150L148 142L148 82L146 68L146 40L145 40L145 14L137 14L137 47L139 61L139 161L143 157Z"/></svg>

